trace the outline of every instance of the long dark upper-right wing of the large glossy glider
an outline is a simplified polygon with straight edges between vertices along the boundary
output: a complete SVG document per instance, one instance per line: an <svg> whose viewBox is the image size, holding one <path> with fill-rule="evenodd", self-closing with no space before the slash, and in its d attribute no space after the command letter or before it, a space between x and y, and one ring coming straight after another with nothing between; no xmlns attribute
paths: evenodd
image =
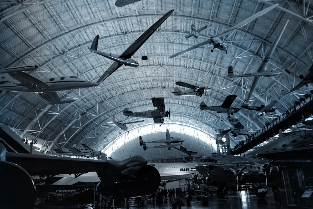
<svg viewBox="0 0 313 209"><path fill-rule="evenodd" d="M134 43L132 43L124 52L121 54L121 58L130 59L132 55L141 47L142 44L146 42L146 40L158 29L158 27L172 14L174 9L167 12L162 16L155 24L153 24L149 29L146 30Z"/></svg>

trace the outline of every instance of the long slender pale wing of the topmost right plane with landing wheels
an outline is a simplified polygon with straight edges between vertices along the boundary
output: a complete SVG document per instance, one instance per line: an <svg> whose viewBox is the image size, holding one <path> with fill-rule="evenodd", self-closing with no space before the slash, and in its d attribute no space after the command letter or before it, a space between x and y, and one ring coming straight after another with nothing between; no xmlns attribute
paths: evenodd
<svg viewBox="0 0 313 209"><path fill-rule="evenodd" d="M252 22L252 21L255 20L256 18L259 18L260 16L264 15L265 13L268 13L270 10L274 9L274 8L277 7L277 6L278 6L278 4L275 4L275 5L273 5L273 6L270 6L270 7L266 8L266 9L261 10L261 11L258 12L258 13L255 13L254 15L252 15L251 17L245 19L244 21L240 22L239 24L236 24L236 25L234 25L233 27L231 27L231 28L227 29L226 31L222 32L221 34L218 34L218 35L216 35L215 37L212 37L212 39L219 39L219 38L221 38L221 37L223 37L223 36L229 34L231 31L243 27L244 25L246 25L246 24ZM211 38L211 37L210 37L210 38ZM197 48L199 48L199 47L201 47L201 46L203 46L203 45L209 44L210 42L211 42L211 39L208 39L208 40L206 40L206 41L203 41L203 42L200 43L200 44L194 45L194 46L192 46L192 47L190 47L190 48L188 48L188 49L186 49L186 50L183 50L183 51L181 51L181 52L178 52L178 53L176 53L175 55L170 56L169 58L174 58L174 57L177 57L177 56L179 56L179 55L185 54L185 53L187 53L187 52L189 52L189 51L192 51L192 50L195 50L195 49L197 49Z"/></svg>

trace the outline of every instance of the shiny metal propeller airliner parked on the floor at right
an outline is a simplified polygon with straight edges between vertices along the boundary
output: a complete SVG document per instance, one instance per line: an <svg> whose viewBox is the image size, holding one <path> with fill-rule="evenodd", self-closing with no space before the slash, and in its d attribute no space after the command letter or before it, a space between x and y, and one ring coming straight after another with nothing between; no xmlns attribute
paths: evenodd
<svg viewBox="0 0 313 209"><path fill-rule="evenodd" d="M226 184L261 184L267 183L268 177L275 177L279 167L271 165L268 160L216 154L203 157L196 162L198 172L221 185L217 191L219 198L225 198ZM257 197L266 196L266 188L258 188Z"/></svg>

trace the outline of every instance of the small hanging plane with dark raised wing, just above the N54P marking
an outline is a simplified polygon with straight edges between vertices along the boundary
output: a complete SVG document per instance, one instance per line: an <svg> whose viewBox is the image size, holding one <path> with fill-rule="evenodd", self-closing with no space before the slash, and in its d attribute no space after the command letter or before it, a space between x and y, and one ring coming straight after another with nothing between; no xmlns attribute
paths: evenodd
<svg viewBox="0 0 313 209"><path fill-rule="evenodd" d="M238 112L240 108L237 107L231 107L233 104L233 101L236 99L237 95L228 95L223 104L220 106L211 106L208 107L204 102L200 103L200 109L201 110L210 110L210 111L215 111L218 113L227 113L228 118L230 118L230 115L233 115L234 112Z"/></svg>

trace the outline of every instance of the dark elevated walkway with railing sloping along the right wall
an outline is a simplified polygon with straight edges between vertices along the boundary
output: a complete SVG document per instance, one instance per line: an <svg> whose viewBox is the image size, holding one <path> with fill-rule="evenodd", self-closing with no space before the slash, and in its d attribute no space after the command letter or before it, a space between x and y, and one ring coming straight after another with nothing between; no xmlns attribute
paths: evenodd
<svg viewBox="0 0 313 209"><path fill-rule="evenodd" d="M237 144L231 150L231 154L242 154L249 149L252 149L256 145L278 134L279 129L284 130L291 125L300 122L302 116L308 118L312 113L313 90L310 91L310 94L306 94L304 98L301 98L300 102L296 102L294 106L279 115L278 118L275 118L271 123L266 124L266 126L261 128L257 133L254 133L252 136L249 136L249 138L246 138L245 141L241 141Z"/></svg>

